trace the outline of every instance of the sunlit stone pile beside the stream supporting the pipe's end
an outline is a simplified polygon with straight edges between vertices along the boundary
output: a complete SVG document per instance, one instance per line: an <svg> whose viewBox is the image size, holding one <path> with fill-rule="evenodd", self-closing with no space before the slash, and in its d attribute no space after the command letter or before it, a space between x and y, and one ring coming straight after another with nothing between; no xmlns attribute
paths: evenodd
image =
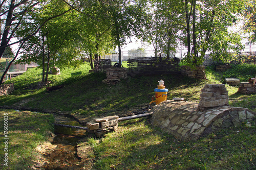
<svg viewBox="0 0 256 170"><path fill-rule="evenodd" d="M107 132L116 131L118 127L119 116L107 116L94 118L87 123L89 133L95 133L96 136L101 136Z"/></svg>

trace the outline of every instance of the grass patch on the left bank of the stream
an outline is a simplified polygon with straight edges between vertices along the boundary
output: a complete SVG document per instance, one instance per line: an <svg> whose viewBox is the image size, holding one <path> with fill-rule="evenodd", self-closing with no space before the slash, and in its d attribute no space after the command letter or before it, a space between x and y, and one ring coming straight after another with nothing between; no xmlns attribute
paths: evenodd
<svg viewBox="0 0 256 170"><path fill-rule="evenodd" d="M7 120L6 122L4 122ZM0 109L0 162L3 169L29 169L35 161L35 148L46 141L49 132L53 131L54 118L50 114L30 111L15 111ZM7 135L7 136L5 136ZM4 141L8 141L8 147ZM8 154L8 162L4 162L4 155ZM8 166L2 164L8 163Z"/></svg>

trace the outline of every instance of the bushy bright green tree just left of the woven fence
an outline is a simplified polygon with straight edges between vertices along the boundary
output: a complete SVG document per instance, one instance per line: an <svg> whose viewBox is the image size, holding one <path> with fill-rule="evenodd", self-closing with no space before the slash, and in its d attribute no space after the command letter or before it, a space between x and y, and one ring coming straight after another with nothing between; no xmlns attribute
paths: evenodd
<svg viewBox="0 0 256 170"><path fill-rule="evenodd" d="M89 58L91 69L94 69L93 58L99 60L100 56L109 53L115 46L111 36L112 25L106 19L108 11L105 10L105 5L99 1L84 2L80 13L82 24L77 40L80 42L79 48Z"/></svg>

